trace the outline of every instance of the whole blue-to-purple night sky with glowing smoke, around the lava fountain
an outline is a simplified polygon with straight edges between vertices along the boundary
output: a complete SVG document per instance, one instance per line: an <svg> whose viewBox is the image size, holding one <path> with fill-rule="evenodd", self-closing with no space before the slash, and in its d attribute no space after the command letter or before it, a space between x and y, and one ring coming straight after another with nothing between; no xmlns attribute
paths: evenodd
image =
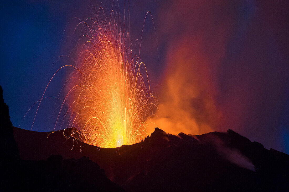
<svg viewBox="0 0 289 192"><path fill-rule="evenodd" d="M77 22L73 18L90 16L90 5L110 10L112 3L103 2L1 2L0 85L14 126L31 129L36 108L21 123L26 112L55 71L72 62L60 57L70 48L63 35ZM160 128L173 134L233 129L289 154L288 1L118 4L121 18L129 4L130 17L125 16L136 49L144 18L152 14L144 23L139 56L156 87ZM64 71L45 96L57 96L65 78ZM53 98L43 101L34 131L51 131L55 106Z"/></svg>

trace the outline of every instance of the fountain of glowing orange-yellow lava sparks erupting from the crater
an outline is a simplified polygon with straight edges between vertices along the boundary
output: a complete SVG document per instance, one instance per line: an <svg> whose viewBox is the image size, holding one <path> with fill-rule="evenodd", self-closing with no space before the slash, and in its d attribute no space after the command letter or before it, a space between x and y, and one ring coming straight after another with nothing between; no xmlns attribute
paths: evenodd
<svg viewBox="0 0 289 192"><path fill-rule="evenodd" d="M140 142L147 135L144 120L152 115L153 96L145 84L144 63L132 57L128 33L110 18L89 18L76 27L82 35L60 111L70 106L65 118L69 127L83 133L79 139L112 148Z"/></svg>

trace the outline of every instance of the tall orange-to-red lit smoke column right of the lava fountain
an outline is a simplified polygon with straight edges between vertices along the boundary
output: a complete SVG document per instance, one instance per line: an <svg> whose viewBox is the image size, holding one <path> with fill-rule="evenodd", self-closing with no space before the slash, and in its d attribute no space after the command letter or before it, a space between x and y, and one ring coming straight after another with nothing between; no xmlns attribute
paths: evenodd
<svg viewBox="0 0 289 192"><path fill-rule="evenodd" d="M230 31L230 18L219 14L226 9L223 4L173 1L160 11L159 41L166 45L167 57L155 122L168 133L208 133L221 119L215 71Z"/></svg>

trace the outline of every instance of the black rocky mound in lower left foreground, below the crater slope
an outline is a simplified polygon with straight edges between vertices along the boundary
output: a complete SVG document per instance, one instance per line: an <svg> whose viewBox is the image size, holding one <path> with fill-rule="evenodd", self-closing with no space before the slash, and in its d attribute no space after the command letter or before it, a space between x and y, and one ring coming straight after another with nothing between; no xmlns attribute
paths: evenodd
<svg viewBox="0 0 289 192"><path fill-rule="evenodd" d="M110 181L89 157L64 160L52 155L46 161L22 161L21 191L124 191Z"/></svg>

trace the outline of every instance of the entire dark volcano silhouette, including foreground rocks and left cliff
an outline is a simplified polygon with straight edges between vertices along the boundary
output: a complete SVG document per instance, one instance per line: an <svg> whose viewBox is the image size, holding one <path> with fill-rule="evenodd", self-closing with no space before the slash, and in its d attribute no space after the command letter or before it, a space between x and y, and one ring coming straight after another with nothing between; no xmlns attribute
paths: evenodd
<svg viewBox="0 0 289 192"><path fill-rule="evenodd" d="M1 102L3 191L289 189L289 155L230 129L172 135L155 128L140 143L100 148L78 140L83 137L75 128L36 132L12 127Z"/></svg>

